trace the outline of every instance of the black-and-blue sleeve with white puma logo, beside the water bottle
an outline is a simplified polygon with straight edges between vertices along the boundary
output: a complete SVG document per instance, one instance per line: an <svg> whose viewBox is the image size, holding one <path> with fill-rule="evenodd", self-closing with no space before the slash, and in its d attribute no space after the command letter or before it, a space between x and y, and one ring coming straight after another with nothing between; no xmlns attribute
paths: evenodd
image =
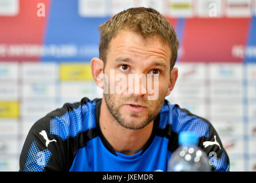
<svg viewBox="0 0 256 183"><path fill-rule="evenodd" d="M229 172L229 156L212 124L208 122L208 125L208 136L200 138L199 147L206 152L213 171Z"/></svg>

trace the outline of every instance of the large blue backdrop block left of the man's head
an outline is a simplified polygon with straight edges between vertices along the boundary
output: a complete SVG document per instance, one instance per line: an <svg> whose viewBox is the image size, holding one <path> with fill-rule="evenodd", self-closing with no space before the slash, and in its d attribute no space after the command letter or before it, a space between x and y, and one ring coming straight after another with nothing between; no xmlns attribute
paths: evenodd
<svg viewBox="0 0 256 183"><path fill-rule="evenodd" d="M89 62L92 57L99 57L98 27L109 17L80 17L77 3L70 0L52 1L41 61Z"/></svg>

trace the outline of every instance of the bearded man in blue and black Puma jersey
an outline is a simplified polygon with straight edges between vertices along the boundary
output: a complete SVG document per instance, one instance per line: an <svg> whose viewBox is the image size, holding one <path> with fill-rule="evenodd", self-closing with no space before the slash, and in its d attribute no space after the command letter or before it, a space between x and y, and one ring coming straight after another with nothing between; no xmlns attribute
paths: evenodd
<svg viewBox="0 0 256 183"><path fill-rule="evenodd" d="M100 58L91 69L103 98L65 104L38 120L20 171L166 171L184 131L196 133L209 157L215 152L213 170L228 171L229 157L210 122L164 99L178 78L179 42L170 22L139 7L99 30ZM215 140L219 145L204 147Z"/></svg>

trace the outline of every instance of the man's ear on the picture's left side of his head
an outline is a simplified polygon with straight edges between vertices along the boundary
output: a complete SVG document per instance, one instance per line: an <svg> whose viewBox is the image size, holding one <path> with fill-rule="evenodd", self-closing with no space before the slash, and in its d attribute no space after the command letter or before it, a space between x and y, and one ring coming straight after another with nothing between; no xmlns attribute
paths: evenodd
<svg viewBox="0 0 256 183"><path fill-rule="evenodd" d="M104 88L103 68L104 68L103 60L96 57L92 58L92 60L90 61L90 69L92 71L92 77L96 82L96 84L102 89Z"/></svg>

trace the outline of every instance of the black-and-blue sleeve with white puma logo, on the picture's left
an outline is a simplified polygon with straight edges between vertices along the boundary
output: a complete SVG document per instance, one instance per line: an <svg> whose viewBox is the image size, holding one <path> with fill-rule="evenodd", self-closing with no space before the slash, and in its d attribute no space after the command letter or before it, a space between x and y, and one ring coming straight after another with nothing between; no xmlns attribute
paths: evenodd
<svg viewBox="0 0 256 183"><path fill-rule="evenodd" d="M50 116L38 120L27 134L19 158L20 172L64 171L65 142L50 134Z"/></svg>

